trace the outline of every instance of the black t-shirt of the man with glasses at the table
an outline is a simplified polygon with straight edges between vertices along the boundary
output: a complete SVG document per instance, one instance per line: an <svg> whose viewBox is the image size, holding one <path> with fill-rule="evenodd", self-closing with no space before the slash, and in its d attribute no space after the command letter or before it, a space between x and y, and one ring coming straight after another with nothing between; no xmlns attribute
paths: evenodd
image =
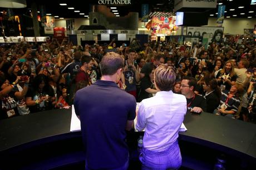
<svg viewBox="0 0 256 170"><path fill-rule="evenodd" d="M195 97L186 98L186 104L188 108L200 107L204 112L206 112L206 100L198 94L195 94Z"/></svg>

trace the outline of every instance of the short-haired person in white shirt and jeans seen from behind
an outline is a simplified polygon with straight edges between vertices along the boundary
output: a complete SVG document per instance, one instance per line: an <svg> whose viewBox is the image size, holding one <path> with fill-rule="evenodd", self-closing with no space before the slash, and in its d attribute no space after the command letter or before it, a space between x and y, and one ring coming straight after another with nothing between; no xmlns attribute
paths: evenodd
<svg viewBox="0 0 256 170"><path fill-rule="evenodd" d="M178 133L186 114L186 98L171 91L175 79L173 66L157 67L154 84L158 92L139 104L136 129L145 129L140 153L142 169L178 169L181 166Z"/></svg>

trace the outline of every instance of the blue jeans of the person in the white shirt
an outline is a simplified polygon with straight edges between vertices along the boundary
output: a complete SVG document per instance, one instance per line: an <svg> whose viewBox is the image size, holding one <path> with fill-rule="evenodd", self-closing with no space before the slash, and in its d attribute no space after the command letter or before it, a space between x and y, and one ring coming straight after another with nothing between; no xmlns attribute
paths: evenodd
<svg viewBox="0 0 256 170"><path fill-rule="evenodd" d="M178 140L165 151L157 152L142 148L140 153L142 170L146 169L178 169L181 166L181 154Z"/></svg>

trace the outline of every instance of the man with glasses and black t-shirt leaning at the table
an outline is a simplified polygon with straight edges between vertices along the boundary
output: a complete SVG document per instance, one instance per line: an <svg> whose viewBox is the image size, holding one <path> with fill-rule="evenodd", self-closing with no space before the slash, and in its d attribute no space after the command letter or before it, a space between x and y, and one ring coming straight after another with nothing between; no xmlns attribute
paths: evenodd
<svg viewBox="0 0 256 170"><path fill-rule="evenodd" d="M190 112L201 113L206 111L206 100L194 93L196 80L193 77L183 77L181 81L181 94L186 97L187 107Z"/></svg>

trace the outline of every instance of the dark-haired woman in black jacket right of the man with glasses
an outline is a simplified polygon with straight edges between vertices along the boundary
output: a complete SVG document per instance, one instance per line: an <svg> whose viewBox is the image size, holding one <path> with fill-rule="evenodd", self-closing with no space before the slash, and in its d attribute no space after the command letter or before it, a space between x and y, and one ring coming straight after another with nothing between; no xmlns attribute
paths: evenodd
<svg viewBox="0 0 256 170"><path fill-rule="evenodd" d="M218 87L218 82L215 78L204 78L203 88L205 91L204 98L206 99L206 112L213 113L214 109L219 106L221 91Z"/></svg>

